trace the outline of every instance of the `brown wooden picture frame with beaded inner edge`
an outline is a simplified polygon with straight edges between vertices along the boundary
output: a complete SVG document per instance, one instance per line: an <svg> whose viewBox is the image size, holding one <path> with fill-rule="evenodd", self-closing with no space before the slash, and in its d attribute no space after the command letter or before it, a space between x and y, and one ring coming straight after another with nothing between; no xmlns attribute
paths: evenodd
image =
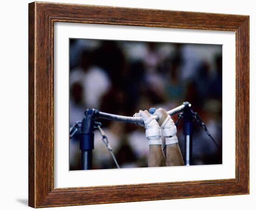
<svg viewBox="0 0 256 210"><path fill-rule="evenodd" d="M236 178L54 188L54 22L236 33ZM34 208L249 194L249 16L33 2L29 4L29 206Z"/></svg>

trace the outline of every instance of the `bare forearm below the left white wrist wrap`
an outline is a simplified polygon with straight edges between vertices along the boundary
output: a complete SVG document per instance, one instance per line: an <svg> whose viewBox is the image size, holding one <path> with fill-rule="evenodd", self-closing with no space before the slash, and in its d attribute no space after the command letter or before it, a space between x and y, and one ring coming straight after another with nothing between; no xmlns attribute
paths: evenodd
<svg viewBox="0 0 256 210"><path fill-rule="evenodd" d="M149 145L148 167L166 166L162 145Z"/></svg>

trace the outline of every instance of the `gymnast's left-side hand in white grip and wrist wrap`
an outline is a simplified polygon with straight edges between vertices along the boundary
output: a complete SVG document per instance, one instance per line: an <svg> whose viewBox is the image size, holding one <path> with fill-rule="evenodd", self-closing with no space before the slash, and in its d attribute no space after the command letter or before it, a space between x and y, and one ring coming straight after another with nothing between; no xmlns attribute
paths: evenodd
<svg viewBox="0 0 256 210"><path fill-rule="evenodd" d="M135 113L134 117L141 117L143 119L144 127L146 128L146 137L149 140L149 145L161 145L161 130L155 118L151 114L149 114L147 110L140 110L139 113Z"/></svg>

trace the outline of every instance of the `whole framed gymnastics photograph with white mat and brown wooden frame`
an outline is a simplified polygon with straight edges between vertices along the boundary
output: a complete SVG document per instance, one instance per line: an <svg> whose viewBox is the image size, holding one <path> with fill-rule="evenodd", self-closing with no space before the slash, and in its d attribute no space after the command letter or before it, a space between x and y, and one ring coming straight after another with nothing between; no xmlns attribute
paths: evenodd
<svg viewBox="0 0 256 210"><path fill-rule="evenodd" d="M249 194L249 16L29 4L29 206Z"/></svg>

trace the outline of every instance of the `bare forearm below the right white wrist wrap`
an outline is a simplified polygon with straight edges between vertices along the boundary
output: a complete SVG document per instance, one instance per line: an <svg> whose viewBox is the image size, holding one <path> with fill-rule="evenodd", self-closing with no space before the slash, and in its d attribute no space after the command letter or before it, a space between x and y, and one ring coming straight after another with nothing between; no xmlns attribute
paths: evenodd
<svg viewBox="0 0 256 210"><path fill-rule="evenodd" d="M166 164L168 166L184 165L179 144L169 144L166 146Z"/></svg>

